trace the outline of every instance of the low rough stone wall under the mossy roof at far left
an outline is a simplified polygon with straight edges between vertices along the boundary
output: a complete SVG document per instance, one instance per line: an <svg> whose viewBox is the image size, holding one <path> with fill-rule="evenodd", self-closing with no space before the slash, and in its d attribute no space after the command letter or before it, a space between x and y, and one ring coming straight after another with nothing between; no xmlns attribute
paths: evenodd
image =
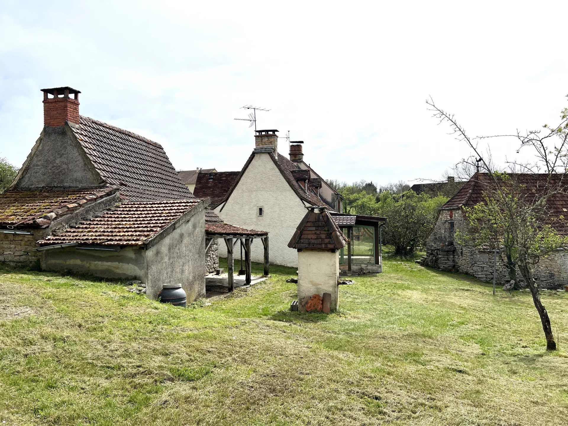
<svg viewBox="0 0 568 426"><path fill-rule="evenodd" d="M32 232L33 235L0 232L0 262L12 266L30 266L41 259L41 252L24 253L24 251L39 247L36 241L43 239L48 230L38 228L20 230Z"/></svg>

